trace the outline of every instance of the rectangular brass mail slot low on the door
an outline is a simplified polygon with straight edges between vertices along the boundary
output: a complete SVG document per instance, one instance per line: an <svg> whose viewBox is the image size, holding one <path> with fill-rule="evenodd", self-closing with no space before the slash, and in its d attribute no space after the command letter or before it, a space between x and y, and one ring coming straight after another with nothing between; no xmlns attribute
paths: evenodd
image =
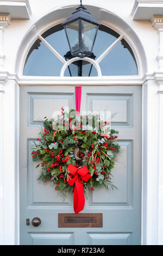
<svg viewBox="0 0 163 256"><path fill-rule="evenodd" d="M58 214L59 228L98 228L103 227L102 214Z"/></svg>

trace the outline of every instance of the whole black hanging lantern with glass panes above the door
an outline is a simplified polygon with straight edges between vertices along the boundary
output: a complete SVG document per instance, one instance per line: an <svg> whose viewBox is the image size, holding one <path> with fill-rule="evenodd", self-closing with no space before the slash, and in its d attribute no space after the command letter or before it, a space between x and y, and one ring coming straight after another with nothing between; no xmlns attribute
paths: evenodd
<svg viewBox="0 0 163 256"><path fill-rule="evenodd" d="M68 17L62 25L72 56L80 58L91 56L101 24L90 15L90 11L86 10L82 1L72 16Z"/></svg>

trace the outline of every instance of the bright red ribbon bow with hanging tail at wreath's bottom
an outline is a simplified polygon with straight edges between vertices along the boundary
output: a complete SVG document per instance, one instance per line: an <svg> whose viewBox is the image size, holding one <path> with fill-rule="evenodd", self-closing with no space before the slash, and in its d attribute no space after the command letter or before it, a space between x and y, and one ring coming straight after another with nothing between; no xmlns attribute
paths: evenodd
<svg viewBox="0 0 163 256"><path fill-rule="evenodd" d="M84 209L85 204L83 180L88 181L91 178L91 175L89 174L89 169L86 166L78 169L71 163L67 167L67 172L69 173L69 177L67 178L68 184L70 186L75 184L73 209L75 214L78 214L78 212Z"/></svg>

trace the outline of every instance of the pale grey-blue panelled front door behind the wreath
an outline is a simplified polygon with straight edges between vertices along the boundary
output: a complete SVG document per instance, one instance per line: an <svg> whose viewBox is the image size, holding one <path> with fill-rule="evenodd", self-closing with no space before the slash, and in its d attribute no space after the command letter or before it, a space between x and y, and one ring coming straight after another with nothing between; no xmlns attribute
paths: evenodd
<svg viewBox="0 0 163 256"><path fill-rule="evenodd" d="M21 245L139 245L141 240L141 87L82 88L81 109L117 115L121 154L112 171L118 190L89 192L85 213L103 213L102 228L59 228L58 214L73 213L73 196L62 202L51 184L37 181L39 169L30 157L40 119L61 106L74 108L74 87L20 87L20 224ZM41 219L39 227L31 223ZM30 225L26 225L29 218Z"/></svg>

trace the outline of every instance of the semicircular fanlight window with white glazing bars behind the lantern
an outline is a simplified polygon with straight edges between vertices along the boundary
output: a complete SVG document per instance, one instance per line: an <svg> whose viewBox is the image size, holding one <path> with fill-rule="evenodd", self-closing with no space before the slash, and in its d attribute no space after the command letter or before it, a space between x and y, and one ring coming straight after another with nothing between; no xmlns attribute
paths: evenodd
<svg viewBox="0 0 163 256"><path fill-rule="evenodd" d="M131 47L123 35L101 25L92 55L71 56L62 25L38 36L28 52L25 76L127 76L138 75Z"/></svg>

